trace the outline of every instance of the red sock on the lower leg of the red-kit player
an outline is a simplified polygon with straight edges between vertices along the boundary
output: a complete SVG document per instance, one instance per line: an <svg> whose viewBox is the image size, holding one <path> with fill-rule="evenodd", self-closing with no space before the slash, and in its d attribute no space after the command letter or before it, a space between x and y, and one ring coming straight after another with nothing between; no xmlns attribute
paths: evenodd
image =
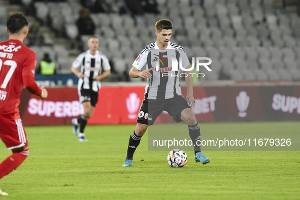
<svg viewBox="0 0 300 200"><path fill-rule="evenodd" d="M0 164L0 179L17 169L17 167L26 159L29 150L13 153L3 160Z"/></svg>

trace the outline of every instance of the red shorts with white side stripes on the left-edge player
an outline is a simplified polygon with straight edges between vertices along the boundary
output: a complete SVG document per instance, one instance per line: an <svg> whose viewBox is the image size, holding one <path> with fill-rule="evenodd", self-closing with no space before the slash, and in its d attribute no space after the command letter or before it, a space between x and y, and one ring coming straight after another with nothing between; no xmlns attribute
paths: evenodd
<svg viewBox="0 0 300 200"><path fill-rule="evenodd" d="M28 146L21 119L13 120L0 116L0 138L9 150Z"/></svg>

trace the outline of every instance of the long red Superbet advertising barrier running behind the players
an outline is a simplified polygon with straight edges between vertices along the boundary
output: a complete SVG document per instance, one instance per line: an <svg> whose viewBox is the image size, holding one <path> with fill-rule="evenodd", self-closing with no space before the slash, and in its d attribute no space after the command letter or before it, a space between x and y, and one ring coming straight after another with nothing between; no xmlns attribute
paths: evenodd
<svg viewBox="0 0 300 200"><path fill-rule="evenodd" d="M26 89L21 95L24 125L71 124L83 114L77 88L47 88L41 99ZM182 87L186 97L186 88ZM103 86L88 124L135 124L145 86ZM299 86L194 87L195 116L201 121L300 120ZM155 121L174 122L163 112Z"/></svg>

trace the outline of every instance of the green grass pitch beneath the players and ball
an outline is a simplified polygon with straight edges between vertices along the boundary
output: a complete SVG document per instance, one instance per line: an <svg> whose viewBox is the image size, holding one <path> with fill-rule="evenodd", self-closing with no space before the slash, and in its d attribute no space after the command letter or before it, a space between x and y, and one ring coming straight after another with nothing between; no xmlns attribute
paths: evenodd
<svg viewBox="0 0 300 200"><path fill-rule="evenodd" d="M300 122L200 123L201 131L297 131ZM25 127L30 154L0 180L0 199L300 199L300 152L187 152L171 168L168 152L148 152L147 135L131 168L122 168L135 125L88 125L88 142L71 126ZM11 154L2 143L0 161Z"/></svg>

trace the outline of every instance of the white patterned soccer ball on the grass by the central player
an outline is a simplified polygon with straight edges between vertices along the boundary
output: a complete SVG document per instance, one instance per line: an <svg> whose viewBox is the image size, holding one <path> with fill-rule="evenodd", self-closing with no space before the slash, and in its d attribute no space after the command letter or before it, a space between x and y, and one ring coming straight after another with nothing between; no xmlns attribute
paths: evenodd
<svg viewBox="0 0 300 200"><path fill-rule="evenodd" d="M173 149L168 154L168 163L172 168L182 168L187 161L187 155L182 149Z"/></svg>

